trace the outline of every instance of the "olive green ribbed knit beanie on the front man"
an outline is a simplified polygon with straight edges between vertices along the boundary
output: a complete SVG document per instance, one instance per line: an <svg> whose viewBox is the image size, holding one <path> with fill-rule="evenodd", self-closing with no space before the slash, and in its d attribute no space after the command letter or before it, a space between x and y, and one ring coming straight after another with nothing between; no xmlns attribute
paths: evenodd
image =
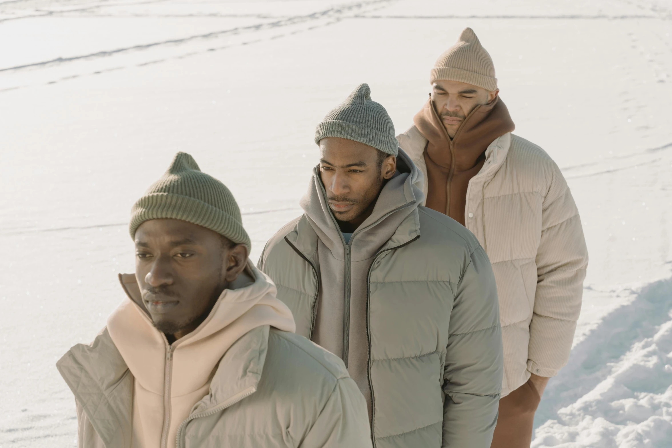
<svg viewBox="0 0 672 448"><path fill-rule="evenodd" d="M130 236L149 220L172 218L209 228L251 249L241 209L226 185L202 173L194 157L178 152L168 171L152 184L131 209Z"/></svg>

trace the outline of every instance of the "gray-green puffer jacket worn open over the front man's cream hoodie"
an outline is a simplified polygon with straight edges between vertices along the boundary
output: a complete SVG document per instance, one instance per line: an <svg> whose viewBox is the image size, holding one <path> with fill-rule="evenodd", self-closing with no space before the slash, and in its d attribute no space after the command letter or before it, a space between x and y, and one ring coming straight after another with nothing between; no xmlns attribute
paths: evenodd
<svg viewBox="0 0 672 448"><path fill-rule="evenodd" d="M78 446L130 448L134 377L108 328L56 366L75 394ZM261 325L224 353L209 393L179 425L175 446L366 448L366 418L364 397L338 357Z"/></svg>

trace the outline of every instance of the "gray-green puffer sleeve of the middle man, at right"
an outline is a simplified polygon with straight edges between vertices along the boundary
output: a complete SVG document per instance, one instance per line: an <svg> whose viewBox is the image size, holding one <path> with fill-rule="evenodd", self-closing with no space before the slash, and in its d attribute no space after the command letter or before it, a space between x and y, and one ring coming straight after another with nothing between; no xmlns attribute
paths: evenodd
<svg viewBox="0 0 672 448"><path fill-rule="evenodd" d="M489 448L504 368L499 302L490 260L478 247L460 279L444 369L444 447Z"/></svg>

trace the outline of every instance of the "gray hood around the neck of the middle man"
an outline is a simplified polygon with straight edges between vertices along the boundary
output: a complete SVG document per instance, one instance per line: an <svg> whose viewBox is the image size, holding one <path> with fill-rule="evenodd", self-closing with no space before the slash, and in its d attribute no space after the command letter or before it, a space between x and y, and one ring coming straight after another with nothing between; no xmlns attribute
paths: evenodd
<svg viewBox="0 0 672 448"><path fill-rule="evenodd" d="M423 175L401 148L396 156L396 168L394 176L380 191L371 215L351 236L352 261L371 257L390 238L403 244L419 234L417 206L424 199ZM319 239L336 259L344 260L345 240L327 203L319 166L313 169L308 191L299 204ZM399 228L409 215L413 215L415 219L409 222L409 226Z"/></svg>

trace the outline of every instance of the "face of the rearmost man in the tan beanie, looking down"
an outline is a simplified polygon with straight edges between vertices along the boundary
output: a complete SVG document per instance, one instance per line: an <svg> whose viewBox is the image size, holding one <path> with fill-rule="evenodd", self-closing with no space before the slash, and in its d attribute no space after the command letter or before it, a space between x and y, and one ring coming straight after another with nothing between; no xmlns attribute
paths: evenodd
<svg viewBox="0 0 672 448"><path fill-rule="evenodd" d="M499 89L489 92L458 81L441 80L431 85L431 101L450 138L455 136L466 116L476 106L493 101L497 93Z"/></svg>

